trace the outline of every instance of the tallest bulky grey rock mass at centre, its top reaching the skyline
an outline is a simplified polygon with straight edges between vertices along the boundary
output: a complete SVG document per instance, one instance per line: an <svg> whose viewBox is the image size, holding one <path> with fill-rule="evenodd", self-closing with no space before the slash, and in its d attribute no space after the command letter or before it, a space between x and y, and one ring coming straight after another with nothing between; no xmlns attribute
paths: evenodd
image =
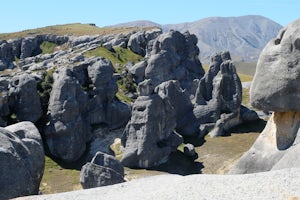
<svg viewBox="0 0 300 200"><path fill-rule="evenodd" d="M170 31L158 36L152 45L145 78L154 86L168 80L178 80L183 89L194 94L193 81L204 75L199 61L197 38L188 32Z"/></svg>

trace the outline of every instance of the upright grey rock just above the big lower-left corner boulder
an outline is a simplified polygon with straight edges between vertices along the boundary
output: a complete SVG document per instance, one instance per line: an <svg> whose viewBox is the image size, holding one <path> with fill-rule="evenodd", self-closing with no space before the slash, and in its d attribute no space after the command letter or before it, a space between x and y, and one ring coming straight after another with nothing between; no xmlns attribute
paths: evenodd
<svg viewBox="0 0 300 200"><path fill-rule="evenodd" d="M9 88L10 109L19 121L36 122L42 116L35 79L26 73L14 76Z"/></svg>

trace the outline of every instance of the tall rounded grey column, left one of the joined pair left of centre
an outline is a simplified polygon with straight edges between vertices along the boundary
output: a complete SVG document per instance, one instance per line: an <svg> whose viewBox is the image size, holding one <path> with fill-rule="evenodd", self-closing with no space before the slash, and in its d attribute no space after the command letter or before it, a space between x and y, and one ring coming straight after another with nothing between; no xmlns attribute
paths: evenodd
<svg viewBox="0 0 300 200"><path fill-rule="evenodd" d="M52 155L67 162L80 158L91 138L90 124L83 117L88 95L72 75L71 69L61 68L54 74L50 94L49 124L45 137Z"/></svg>

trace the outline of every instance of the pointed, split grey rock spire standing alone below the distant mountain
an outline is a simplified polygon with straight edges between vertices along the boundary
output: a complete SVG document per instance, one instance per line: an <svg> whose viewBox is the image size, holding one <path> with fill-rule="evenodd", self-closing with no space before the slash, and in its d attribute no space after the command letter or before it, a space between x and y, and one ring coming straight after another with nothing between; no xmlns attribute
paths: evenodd
<svg viewBox="0 0 300 200"><path fill-rule="evenodd" d="M240 105L242 85L229 52L215 54L208 72L200 80L193 110L198 127L215 123L212 137L226 134L226 130L241 123ZM210 126L206 126L210 127ZM208 132L209 130L202 130Z"/></svg>

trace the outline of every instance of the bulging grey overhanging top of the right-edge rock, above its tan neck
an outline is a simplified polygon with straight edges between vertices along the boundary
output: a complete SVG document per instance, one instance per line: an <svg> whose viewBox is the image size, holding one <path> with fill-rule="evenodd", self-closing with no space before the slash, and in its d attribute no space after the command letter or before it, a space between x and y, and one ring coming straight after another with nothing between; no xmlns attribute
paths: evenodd
<svg viewBox="0 0 300 200"><path fill-rule="evenodd" d="M250 89L254 107L278 112L300 111L299 31L300 20L290 23L260 54Z"/></svg>

